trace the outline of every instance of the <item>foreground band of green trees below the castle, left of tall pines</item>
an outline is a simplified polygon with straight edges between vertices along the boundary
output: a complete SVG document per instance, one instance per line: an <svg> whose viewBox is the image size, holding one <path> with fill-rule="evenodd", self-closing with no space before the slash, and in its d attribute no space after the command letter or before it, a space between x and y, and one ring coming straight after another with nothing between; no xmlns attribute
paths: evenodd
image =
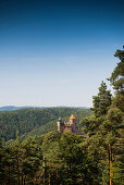
<svg viewBox="0 0 124 185"><path fill-rule="evenodd" d="M99 168L72 133L48 133L0 145L0 184L99 184Z"/></svg>

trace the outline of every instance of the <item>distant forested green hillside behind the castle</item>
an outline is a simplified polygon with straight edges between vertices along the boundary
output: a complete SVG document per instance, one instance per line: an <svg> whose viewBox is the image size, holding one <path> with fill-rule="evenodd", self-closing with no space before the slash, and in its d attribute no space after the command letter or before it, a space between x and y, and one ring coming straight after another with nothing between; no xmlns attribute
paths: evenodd
<svg viewBox="0 0 124 185"><path fill-rule="evenodd" d="M16 132L22 138L27 135L42 135L57 130L59 116L69 121L71 114L77 119L77 123L90 114L88 109L77 108L46 108L46 109L22 109L16 111L0 112L0 137L5 140L15 139Z"/></svg>

